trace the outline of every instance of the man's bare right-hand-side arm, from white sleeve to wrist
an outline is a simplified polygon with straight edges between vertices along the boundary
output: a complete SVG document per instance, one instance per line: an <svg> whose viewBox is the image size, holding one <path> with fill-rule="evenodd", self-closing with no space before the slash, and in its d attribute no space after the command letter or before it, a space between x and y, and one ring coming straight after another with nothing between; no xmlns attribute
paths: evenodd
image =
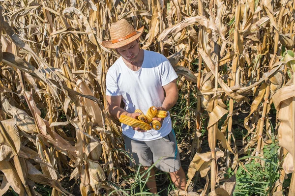
<svg viewBox="0 0 295 196"><path fill-rule="evenodd" d="M178 89L176 79L171 83L163 86L166 96L162 104L162 110L170 110L177 102L178 99Z"/></svg>

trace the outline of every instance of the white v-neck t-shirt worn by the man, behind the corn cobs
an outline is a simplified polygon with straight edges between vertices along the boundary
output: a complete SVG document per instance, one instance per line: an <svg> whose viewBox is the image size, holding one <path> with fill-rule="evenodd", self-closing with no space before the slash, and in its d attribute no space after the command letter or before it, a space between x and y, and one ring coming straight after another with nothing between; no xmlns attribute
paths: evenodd
<svg viewBox="0 0 295 196"><path fill-rule="evenodd" d="M165 99L163 86L178 76L169 60L152 51L144 50L144 61L138 71L127 67L119 57L109 68L106 76L106 95L122 96L124 110L133 113L136 109L147 113L151 106L161 107ZM167 136L172 130L170 114L164 118L161 129L138 132L131 126L122 124L123 134L140 141L157 140Z"/></svg>

